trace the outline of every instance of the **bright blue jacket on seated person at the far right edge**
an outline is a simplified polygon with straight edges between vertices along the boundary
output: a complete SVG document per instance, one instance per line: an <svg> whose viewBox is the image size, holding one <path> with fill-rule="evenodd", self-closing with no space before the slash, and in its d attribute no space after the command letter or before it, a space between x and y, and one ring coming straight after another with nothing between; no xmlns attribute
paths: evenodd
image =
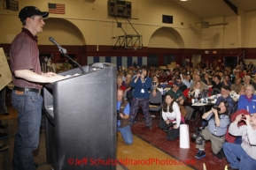
<svg viewBox="0 0 256 170"><path fill-rule="evenodd" d="M245 95L241 95L239 100L238 100L238 108L237 108L237 110L240 110L240 109L245 109L250 114L256 113L256 96L252 95L252 101L249 102L246 99Z"/></svg>

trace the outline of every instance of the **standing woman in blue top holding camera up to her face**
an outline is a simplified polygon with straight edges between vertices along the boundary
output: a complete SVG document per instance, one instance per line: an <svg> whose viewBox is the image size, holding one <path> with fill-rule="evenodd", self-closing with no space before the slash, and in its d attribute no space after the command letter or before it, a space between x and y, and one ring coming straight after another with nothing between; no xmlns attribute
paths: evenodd
<svg viewBox="0 0 256 170"><path fill-rule="evenodd" d="M142 70L137 72L137 75L131 81L131 87L134 87L133 100L131 103L131 111L129 118L129 125L132 126L136 115L138 112L138 108L142 106L144 112L144 120L147 129L152 129L151 127L151 115L150 115L150 93L149 90L151 88L151 78L148 78L149 70L144 66Z"/></svg>

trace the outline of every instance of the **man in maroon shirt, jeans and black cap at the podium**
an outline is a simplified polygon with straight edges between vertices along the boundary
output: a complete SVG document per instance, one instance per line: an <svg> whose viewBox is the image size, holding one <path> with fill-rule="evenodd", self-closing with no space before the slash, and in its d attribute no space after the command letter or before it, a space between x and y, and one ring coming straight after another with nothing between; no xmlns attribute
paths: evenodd
<svg viewBox="0 0 256 170"><path fill-rule="evenodd" d="M22 31L12 41L10 48L12 81L12 106L18 110L18 133L15 136L12 169L35 170L32 151L39 144L43 98L42 83L52 83L65 77L43 73L39 63L37 33L43 32L43 18L47 11L26 6L19 11Z"/></svg>

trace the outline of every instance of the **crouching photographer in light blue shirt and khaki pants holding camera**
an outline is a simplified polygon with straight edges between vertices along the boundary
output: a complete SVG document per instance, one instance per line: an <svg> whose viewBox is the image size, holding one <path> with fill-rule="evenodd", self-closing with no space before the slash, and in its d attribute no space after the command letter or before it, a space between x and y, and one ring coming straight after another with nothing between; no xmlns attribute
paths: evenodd
<svg viewBox="0 0 256 170"><path fill-rule="evenodd" d="M206 157L205 142L206 140L210 140L214 159L221 161L225 159L221 148L225 141L225 134L230 123L228 102L222 101L218 107L213 107L209 112L206 112L202 118L208 120L208 125L201 132L199 131L192 136L192 138L196 140L196 148L198 148L198 153L195 157L197 159Z"/></svg>

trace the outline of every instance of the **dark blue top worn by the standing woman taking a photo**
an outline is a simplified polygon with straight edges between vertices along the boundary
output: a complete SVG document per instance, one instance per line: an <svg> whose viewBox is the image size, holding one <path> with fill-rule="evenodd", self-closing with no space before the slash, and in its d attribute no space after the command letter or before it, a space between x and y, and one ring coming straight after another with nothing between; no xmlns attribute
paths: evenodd
<svg viewBox="0 0 256 170"><path fill-rule="evenodd" d="M134 98L139 98L139 99L149 99L150 98L150 93L149 90L151 88L151 78L145 78L144 83L142 82L141 78L138 78L136 83L135 83L135 78L131 81L131 86L134 87L134 93L133 97ZM142 92L143 90L143 92Z"/></svg>

